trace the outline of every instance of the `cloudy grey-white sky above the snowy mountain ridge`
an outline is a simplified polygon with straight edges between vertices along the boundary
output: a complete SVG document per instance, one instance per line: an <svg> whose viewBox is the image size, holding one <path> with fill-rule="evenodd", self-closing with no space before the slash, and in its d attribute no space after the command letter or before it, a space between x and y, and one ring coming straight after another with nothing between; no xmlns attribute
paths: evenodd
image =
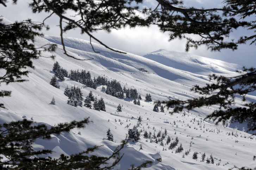
<svg viewBox="0 0 256 170"><path fill-rule="evenodd" d="M31 0L18 0L17 5L12 5L11 2L8 2L4 7L0 5L0 16L11 21L20 21L25 19L32 19L33 21L42 22L43 19L47 16L46 14L32 14L31 9L28 7L28 2ZM150 4L154 4L154 0L145 0ZM184 0L186 6L194 7L204 7L204 8L214 8L214 7L223 7L224 4L221 4L223 0ZM254 16L255 18L255 16ZM51 17L46 20L46 23L50 26L49 31L44 31L44 34L48 35L60 35L60 30L57 27L58 18ZM232 38L239 37L243 33L247 33L246 28L240 28L236 30L232 35ZM253 31L250 32L253 34ZM143 55L158 49L170 49L177 51L185 51L185 40L174 40L168 41L168 33L161 33L156 26L150 28L134 28L134 29L122 29L122 30L113 30L111 33L105 33L100 31L93 33L93 35L104 42L106 45L130 52L133 54ZM78 29L71 30L67 32L64 36L75 37L84 40L89 40L88 36L81 35ZM232 51L230 49L221 50L221 52L211 52L207 50L204 46L199 47L198 49L191 48L189 53L209 57L213 59L223 60L231 63L237 63L246 67L256 67L256 48L255 45L239 45L238 50Z"/></svg>

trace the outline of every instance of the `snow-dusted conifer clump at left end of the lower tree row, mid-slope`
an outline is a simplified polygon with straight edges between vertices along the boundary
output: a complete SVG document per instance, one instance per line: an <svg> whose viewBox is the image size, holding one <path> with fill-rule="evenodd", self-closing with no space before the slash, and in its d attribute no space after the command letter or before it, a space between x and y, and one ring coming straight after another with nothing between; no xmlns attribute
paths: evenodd
<svg viewBox="0 0 256 170"><path fill-rule="evenodd" d="M81 92L81 89L79 87L71 87L68 86L64 90L64 95L68 96L68 104L71 106L83 106L83 94Z"/></svg>

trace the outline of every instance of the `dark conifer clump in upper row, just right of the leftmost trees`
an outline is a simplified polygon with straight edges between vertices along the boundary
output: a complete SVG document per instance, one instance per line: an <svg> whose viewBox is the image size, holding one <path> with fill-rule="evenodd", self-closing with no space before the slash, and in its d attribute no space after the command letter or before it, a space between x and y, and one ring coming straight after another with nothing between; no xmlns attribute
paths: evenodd
<svg viewBox="0 0 256 170"><path fill-rule="evenodd" d="M79 72L78 69L77 71L70 70L69 78L71 80L84 84L87 87L90 87L93 89L97 88L96 84L93 83L93 80L89 71L86 72L86 70L81 70L81 72Z"/></svg>

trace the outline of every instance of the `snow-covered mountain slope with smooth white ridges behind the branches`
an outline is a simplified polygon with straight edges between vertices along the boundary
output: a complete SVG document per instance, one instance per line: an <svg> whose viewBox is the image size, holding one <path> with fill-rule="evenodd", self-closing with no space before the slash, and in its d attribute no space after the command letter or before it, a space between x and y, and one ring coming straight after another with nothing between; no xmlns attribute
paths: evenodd
<svg viewBox="0 0 256 170"><path fill-rule="evenodd" d="M214 125L211 120L204 121L205 115L212 113L218 107L202 107L193 111L184 111L170 115L165 108L164 113L153 111L154 101L172 99L186 100L197 96L190 88L199 84L203 86L209 83L209 74L236 75L236 70L241 67L237 64L227 63L220 60L208 59L184 52L160 49L158 51L138 56L130 53L121 54L108 50L93 43L93 47L100 53L95 53L90 43L76 38L64 38L65 46L70 55L78 59L91 59L87 61L75 60L63 54L60 45L60 37L46 35L37 38L35 44L39 47L46 43L59 44L56 50L56 58L52 60L51 54L44 53L45 57L34 60L35 70L30 69L27 82L1 84L1 88L11 90L12 96L1 98L8 110L0 111L0 123L12 120L21 120L24 117L38 123L54 126L61 122L81 120L90 117L93 121L85 129L74 129L70 133L62 133L60 136L52 136L52 140L36 140L33 144L35 150L51 149L55 151L51 157L60 154L70 155L85 150L94 145L103 145L95 151L95 155L110 156L113 150L120 144L128 133L137 125L138 117L142 117L142 124L138 130L142 130L141 140L130 141L121 150L124 157L115 169L128 169L131 164L139 165L144 160L151 160L152 165L146 169L152 170L219 170L229 169L234 165L254 168L256 138L246 133L246 124L235 124L227 122L226 125ZM142 96L141 105L133 104L133 99L120 99L102 92L102 86L97 89L72 81L65 77L65 81L59 82L60 89L49 84L54 75L52 67L55 61L61 67L70 70L86 70L92 78L103 76L108 80L117 80L122 87L136 88ZM140 70L139 70L140 69ZM144 70L144 71L143 71ZM145 72L145 70L147 72ZM2 72L2 70L0 70ZM98 99L104 98L106 111L96 111L86 107L74 107L67 104L68 97L64 95L65 87L80 87L83 97L91 90ZM145 102L146 94L151 94L152 102ZM49 104L54 96L56 104ZM255 96L248 95L248 100L255 100ZM237 104L242 104L237 99ZM122 111L117 111L118 104L122 105ZM185 113L185 116L184 116ZM116 121L115 121L116 120ZM175 123L174 123L175 122ZM129 126L129 127L127 127ZM110 128L114 142L106 140L106 132ZM144 131L157 135L159 131L167 130L163 140L163 146L150 143L149 138L144 138ZM81 135L78 132L81 132ZM234 135L229 135L230 134ZM176 137L179 144L174 149L168 149L167 136L171 142ZM183 151L175 153L177 147L182 143ZM140 145L142 144L142 150ZM188 155L185 151L190 150ZM198 159L192 159L194 152L198 152ZM205 152L206 158L212 154L214 164L201 161L201 155ZM49 155L46 155L49 156ZM156 158L162 158L158 162ZM218 165L219 164L219 165Z"/></svg>

